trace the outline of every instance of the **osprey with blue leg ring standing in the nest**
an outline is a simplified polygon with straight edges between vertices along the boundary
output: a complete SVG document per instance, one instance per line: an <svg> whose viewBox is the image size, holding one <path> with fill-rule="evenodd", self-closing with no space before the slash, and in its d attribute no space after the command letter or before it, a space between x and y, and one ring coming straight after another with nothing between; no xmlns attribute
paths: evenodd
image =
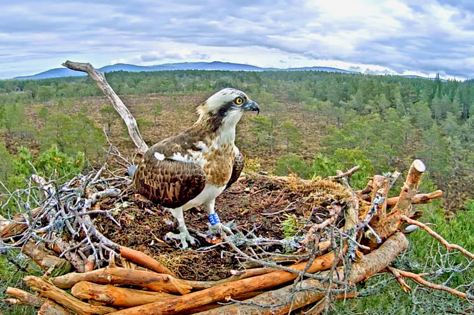
<svg viewBox="0 0 474 315"><path fill-rule="evenodd" d="M183 210L204 205L212 229L230 232L214 207L216 197L237 180L243 168L235 139L237 122L246 110L260 111L241 91L217 92L198 107L199 118L192 127L150 147L136 169L129 171L134 191L176 218L180 233L166 236L180 240L183 249L188 242L196 243Z"/></svg>

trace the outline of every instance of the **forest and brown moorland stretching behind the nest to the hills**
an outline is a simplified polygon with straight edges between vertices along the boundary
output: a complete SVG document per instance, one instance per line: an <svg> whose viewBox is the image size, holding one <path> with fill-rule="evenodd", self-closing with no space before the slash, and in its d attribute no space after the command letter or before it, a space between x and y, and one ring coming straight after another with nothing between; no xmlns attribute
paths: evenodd
<svg viewBox="0 0 474 315"><path fill-rule="evenodd" d="M311 179L360 165L351 186L363 189L373 174L406 175L411 162L421 159L428 172L420 191L444 191L441 201L422 206L424 218L453 243L474 249L473 81L313 71L115 72L106 78L150 145L184 130L195 120L196 106L221 88L247 93L261 113L244 116L238 125L237 146L246 158L245 172L295 173ZM28 187L25 179L30 174L66 182L77 173L100 168L108 154L107 141L127 156L135 150L120 117L88 77L0 81L0 128L3 216L19 206L5 196ZM422 231L409 240L397 265L419 272L436 270L434 279L468 292L474 289L469 280L474 275L472 262L456 257L443 265L447 254ZM0 259L2 266L12 260L8 254ZM21 282L25 264L13 261L0 267L1 291ZM332 314L466 310L446 293L420 289L406 294L393 279L374 278L365 284L366 297L340 301Z"/></svg>

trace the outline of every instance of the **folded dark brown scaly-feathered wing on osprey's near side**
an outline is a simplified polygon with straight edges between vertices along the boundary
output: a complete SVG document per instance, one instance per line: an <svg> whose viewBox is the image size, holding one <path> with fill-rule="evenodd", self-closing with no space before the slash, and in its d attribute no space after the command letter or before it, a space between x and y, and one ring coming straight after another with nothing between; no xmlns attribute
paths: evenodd
<svg viewBox="0 0 474 315"><path fill-rule="evenodd" d="M170 159L159 161L152 148L145 153L133 176L136 193L152 203L175 209L203 191L206 174L200 166Z"/></svg>

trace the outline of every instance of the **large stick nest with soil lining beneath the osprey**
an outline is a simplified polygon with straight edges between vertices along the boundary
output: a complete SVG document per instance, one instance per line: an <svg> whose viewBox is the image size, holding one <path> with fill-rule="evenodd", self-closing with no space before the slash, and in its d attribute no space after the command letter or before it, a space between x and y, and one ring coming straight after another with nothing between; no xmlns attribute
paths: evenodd
<svg viewBox="0 0 474 315"><path fill-rule="evenodd" d="M336 298L387 265L380 258L357 265L358 250L392 261L407 245L395 233L401 221L381 215L389 205L389 179L376 176L354 192L345 176L356 168L311 181L246 174L216 202L234 234L212 235L205 211L186 211L200 241L188 251L165 240L177 228L171 213L133 194L129 179L103 177L105 169L61 185L33 175L37 186L11 193L10 202L27 196L36 204L5 219L1 249L13 260L29 256L44 275L24 278L41 297L8 288L14 299L7 303L41 307L42 314L211 315L225 314L228 307L219 303L227 301L250 308L248 314L286 314L288 306L311 304L322 292ZM420 202L430 197L437 196L420 196ZM281 287L290 281L299 289Z"/></svg>

